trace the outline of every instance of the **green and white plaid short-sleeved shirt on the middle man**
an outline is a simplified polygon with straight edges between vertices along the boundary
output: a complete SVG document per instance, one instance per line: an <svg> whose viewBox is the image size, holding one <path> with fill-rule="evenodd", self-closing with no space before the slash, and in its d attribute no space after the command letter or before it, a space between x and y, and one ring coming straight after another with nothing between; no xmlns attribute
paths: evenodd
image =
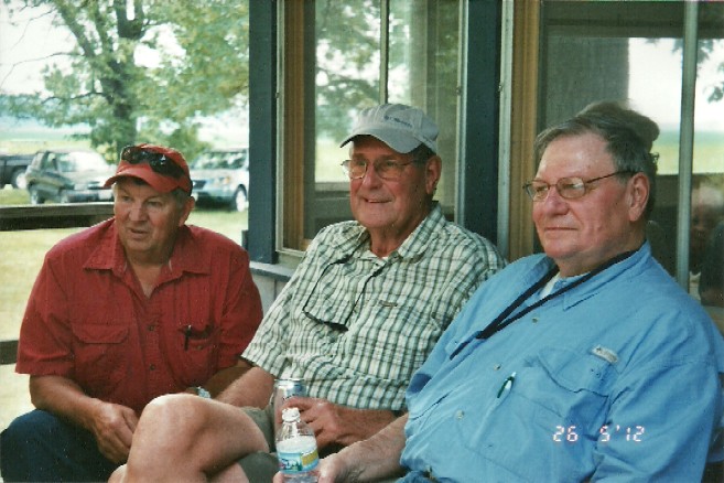
<svg viewBox="0 0 724 483"><path fill-rule="evenodd" d="M244 357L278 377L303 377L311 397L402 409L414 371L475 289L504 259L435 205L389 257L366 229L323 229Z"/></svg>

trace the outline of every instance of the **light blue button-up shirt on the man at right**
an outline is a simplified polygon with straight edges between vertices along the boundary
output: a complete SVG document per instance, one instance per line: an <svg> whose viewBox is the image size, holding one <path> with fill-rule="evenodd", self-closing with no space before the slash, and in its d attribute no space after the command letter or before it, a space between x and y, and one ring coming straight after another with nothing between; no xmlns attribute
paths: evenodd
<svg viewBox="0 0 724 483"><path fill-rule="evenodd" d="M552 265L527 257L484 285L414 375L407 480L701 479L724 343L648 244L476 339Z"/></svg>

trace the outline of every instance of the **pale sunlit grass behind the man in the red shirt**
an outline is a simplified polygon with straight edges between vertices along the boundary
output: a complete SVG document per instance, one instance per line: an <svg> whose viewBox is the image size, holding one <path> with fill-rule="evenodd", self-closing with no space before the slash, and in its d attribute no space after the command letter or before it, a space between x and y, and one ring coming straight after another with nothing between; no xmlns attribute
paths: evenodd
<svg viewBox="0 0 724 483"><path fill-rule="evenodd" d="M0 205L28 204L24 190L0 190ZM197 207L188 224L214 229L235 242L248 225L247 212ZM17 339L28 297L45 253L57 242L83 228L0 232L0 340Z"/></svg>

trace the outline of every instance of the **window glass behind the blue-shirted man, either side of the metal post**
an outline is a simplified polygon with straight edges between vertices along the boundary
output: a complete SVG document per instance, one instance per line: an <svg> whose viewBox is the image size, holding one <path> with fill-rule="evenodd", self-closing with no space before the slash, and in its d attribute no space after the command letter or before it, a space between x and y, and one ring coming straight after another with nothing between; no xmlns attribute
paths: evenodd
<svg viewBox="0 0 724 483"><path fill-rule="evenodd" d="M649 240L655 256L676 276L678 215L691 208L689 291L699 299L705 280L704 303L721 319L724 265L716 234L721 237L724 229L718 226L724 222L724 4L699 4L693 114L681 111L683 9L683 2L543 2L539 128L602 99L628 99L659 125ZM687 116L694 125L692 191L681 206L679 191L687 180L680 169L680 136Z"/></svg>

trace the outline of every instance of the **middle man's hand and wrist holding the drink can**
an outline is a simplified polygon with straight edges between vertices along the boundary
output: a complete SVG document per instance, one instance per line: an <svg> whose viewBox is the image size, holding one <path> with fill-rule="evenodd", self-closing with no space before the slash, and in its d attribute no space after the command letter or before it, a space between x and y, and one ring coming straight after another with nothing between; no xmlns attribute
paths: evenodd
<svg viewBox="0 0 724 483"><path fill-rule="evenodd" d="M392 411L353 409L311 397L291 397L283 407L299 408L304 422L314 430L320 448L332 443L349 446L369 438L395 420Z"/></svg>

